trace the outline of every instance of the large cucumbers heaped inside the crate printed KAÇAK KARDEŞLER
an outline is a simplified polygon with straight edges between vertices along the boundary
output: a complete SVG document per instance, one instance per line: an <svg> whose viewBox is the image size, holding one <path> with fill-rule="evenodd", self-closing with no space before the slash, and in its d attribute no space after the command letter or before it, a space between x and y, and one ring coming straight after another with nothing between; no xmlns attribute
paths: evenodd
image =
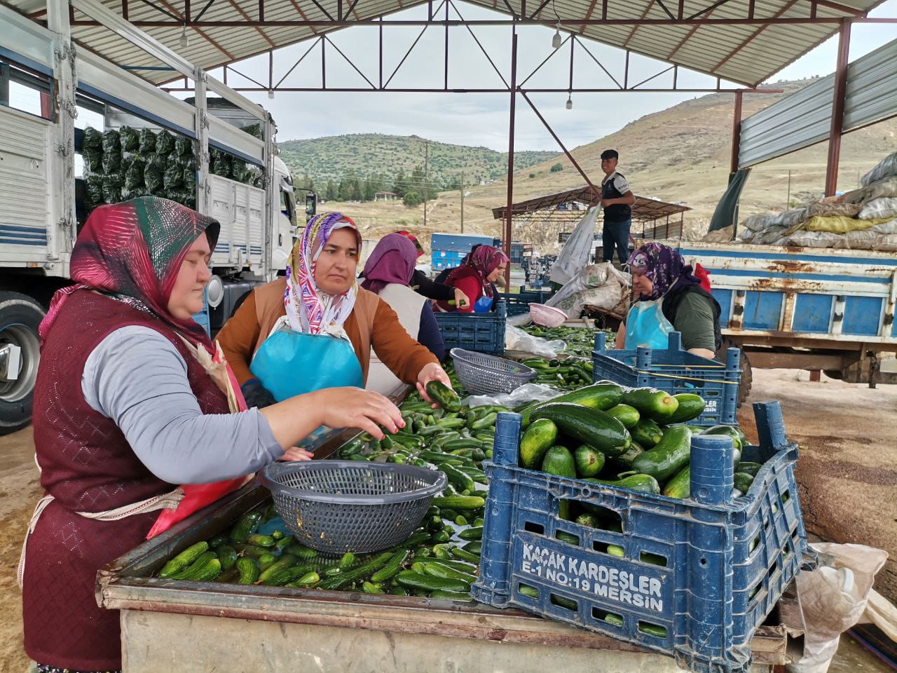
<svg viewBox="0 0 897 673"><path fill-rule="evenodd" d="M724 434L735 444L736 495L761 468L742 462L745 434L732 425L690 425L704 410L692 393L670 395L598 381L520 411L520 467L633 491L689 496L692 435ZM562 508L562 517L575 516Z"/></svg>

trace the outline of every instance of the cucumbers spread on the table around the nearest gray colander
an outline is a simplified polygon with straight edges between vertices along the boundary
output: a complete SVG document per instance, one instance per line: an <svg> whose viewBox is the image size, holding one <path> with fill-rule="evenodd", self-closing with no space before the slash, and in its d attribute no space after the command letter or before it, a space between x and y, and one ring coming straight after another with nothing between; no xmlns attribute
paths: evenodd
<svg viewBox="0 0 897 673"><path fill-rule="evenodd" d="M457 380L453 384L458 387ZM487 494L482 461L492 457L496 415L509 409L462 407L457 394L441 384L429 386L428 394L440 408L431 408L415 392L400 406L405 418L401 432L379 441L363 433L338 454L445 472L448 487L403 543L378 554L320 555L285 527L270 530L277 511L269 503L244 514L229 533L187 547L158 576L470 600L470 585L479 572Z"/></svg>

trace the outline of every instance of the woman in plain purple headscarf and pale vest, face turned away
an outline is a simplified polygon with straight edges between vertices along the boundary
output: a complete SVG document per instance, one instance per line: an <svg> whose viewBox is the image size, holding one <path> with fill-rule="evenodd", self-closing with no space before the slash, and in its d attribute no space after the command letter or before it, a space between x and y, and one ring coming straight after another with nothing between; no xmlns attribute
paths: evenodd
<svg viewBox="0 0 897 673"><path fill-rule="evenodd" d="M445 356L445 344L430 302L410 287L416 260L414 243L401 234L390 233L379 241L365 262L361 287L379 294L380 299L396 311L398 321L408 336L441 360ZM365 388L388 395L402 385L388 366L380 362L377 354L371 352Z"/></svg>

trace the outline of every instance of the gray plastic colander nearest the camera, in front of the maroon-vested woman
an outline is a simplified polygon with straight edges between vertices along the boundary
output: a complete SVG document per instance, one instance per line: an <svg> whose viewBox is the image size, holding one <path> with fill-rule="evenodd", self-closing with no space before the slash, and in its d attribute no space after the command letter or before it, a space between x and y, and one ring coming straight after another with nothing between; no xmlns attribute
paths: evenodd
<svg viewBox="0 0 897 673"><path fill-rule="evenodd" d="M342 555L378 552L411 535L446 476L413 465L309 460L273 463L262 483L298 542Z"/></svg>

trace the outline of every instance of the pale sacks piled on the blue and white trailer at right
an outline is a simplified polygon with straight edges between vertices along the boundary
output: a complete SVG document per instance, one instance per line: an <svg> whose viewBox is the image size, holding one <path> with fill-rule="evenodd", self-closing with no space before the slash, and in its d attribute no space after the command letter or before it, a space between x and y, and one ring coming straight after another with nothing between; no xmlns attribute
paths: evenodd
<svg viewBox="0 0 897 673"><path fill-rule="evenodd" d="M741 223L740 238L754 245L897 250L897 153L860 180L861 188Z"/></svg>

